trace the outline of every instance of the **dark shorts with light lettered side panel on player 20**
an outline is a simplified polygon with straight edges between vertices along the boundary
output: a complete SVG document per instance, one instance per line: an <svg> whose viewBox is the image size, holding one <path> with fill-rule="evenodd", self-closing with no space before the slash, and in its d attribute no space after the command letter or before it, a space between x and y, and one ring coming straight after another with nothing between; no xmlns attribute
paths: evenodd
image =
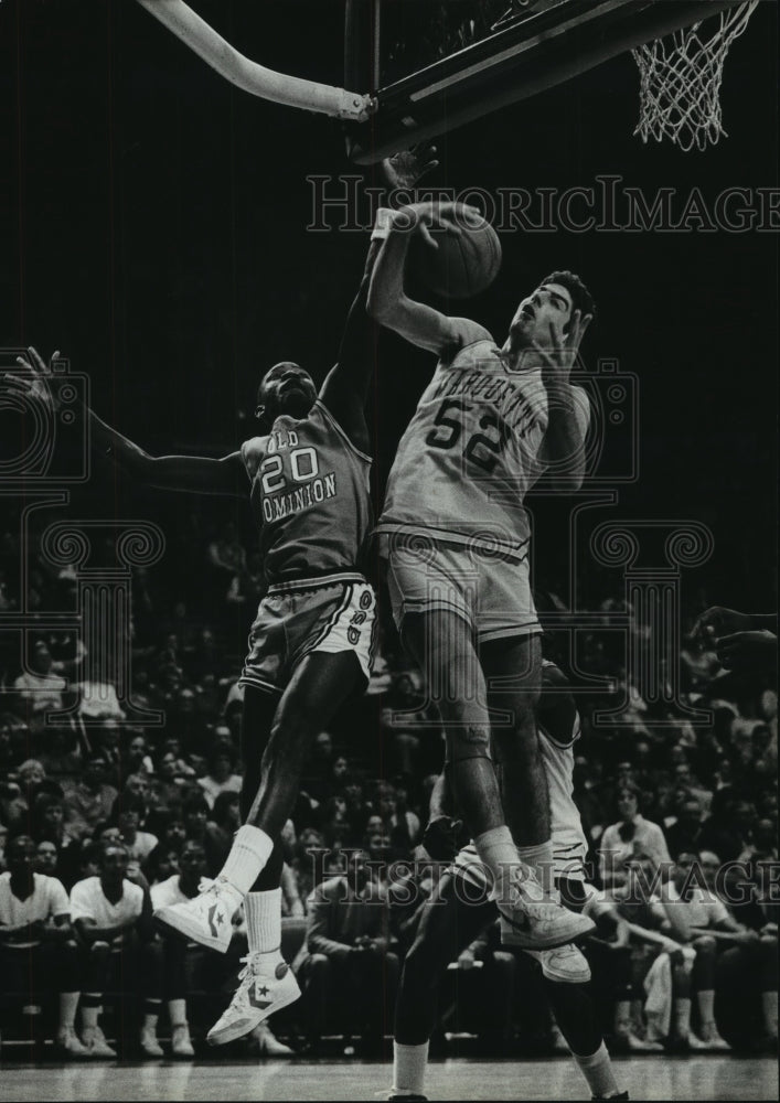
<svg viewBox="0 0 780 1103"><path fill-rule="evenodd" d="M367 681L375 635L376 596L361 575L279 582L260 601L239 684L281 693L316 651L352 651Z"/></svg>

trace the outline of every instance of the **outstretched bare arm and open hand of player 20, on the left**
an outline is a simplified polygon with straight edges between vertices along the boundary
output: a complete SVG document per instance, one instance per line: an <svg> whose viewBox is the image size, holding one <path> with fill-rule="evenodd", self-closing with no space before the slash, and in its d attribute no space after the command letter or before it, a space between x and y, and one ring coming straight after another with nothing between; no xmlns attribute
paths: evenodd
<svg viewBox="0 0 780 1103"><path fill-rule="evenodd" d="M60 354L54 353L52 360ZM34 350L28 349L28 357L17 357L28 372L26 376L14 376L14 383L31 390L41 388L51 366ZM40 390L51 399L51 390ZM92 447L104 457L111 457L118 465L139 482L161 490L192 491L200 494L237 494L247 490L246 473L239 452L224 459L197 456L149 456L142 448L124 437L111 426L100 420L94 410L84 406L89 422Z"/></svg>

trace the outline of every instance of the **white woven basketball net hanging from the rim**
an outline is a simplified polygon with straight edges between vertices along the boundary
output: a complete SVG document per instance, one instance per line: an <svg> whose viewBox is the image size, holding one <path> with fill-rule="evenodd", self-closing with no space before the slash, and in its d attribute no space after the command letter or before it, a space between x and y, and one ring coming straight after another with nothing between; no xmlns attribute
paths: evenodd
<svg viewBox="0 0 780 1103"><path fill-rule="evenodd" d="M720 113L723 66L758 0L632 50L640 73L635 135L671 139L682 150L706 149L726 135Z"/></svg>

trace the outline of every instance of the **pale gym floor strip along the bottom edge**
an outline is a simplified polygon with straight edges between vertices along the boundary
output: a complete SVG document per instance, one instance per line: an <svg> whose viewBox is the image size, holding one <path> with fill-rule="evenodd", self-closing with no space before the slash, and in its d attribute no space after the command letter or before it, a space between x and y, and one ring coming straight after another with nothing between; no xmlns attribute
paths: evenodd
<svg viewBox="0 0 780 1103"><path fill-rule="evenodd" d="M777 1100L772 1058L641 1057L616 1060L632 1100ZM2 1062L0 1097L44 1100L371 1100L389 1086L382 1062L350 1060ZM588 1092L568 1058L432 1061L431 1100L586 1100Z"/></svg>

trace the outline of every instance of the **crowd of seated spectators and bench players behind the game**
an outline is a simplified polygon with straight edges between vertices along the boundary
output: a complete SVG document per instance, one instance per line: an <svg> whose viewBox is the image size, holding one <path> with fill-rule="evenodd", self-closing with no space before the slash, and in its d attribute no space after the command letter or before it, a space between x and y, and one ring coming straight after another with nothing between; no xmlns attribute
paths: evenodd
<svg viewBox="0 0 780 1103"><path fill-rule="evenodd" d="M129 695L105 681L73 627L42 618L23 654L10 633L0 650L6 1040L53 1034L71 1057L111 1057L127 1016L105 1009L132 998L140 1052L160 1057L170 1039L186 1058L235 985L241 915L221 957L163 939L151 912L216 875L238 824L236 683L261 581L232 522L180 539L189 559L179 563L202 549L194 574L133 571ZM75 576L40 556L26 593L14 590L19 555L13 533L0 536L2 611L75 614ZM605 623L616 607L615 595L600 598ZM615 1045L637 1051L777 1043L773 674L724 667L692 624L677 699L663 704L627 679L615 632L578 638L579 668L605 686L578 700L575 748L600 890L594 983ZM645 627L632 619L630 631L641 645ZM130 722L139 708L164 721ZM598 711L610 715L596 722ZM389 1032L399 964L439 871L421 842L442 758L420 675L384 625L366 695L318 736L286 827L284 949L304 993L250 1039L259 1052L319 1051L328 1035L372 1050ZM434 1045L463 1032L491 1052L559 1045L534 967L503 951L495 930L452 963L450 979Z"/></svg>

